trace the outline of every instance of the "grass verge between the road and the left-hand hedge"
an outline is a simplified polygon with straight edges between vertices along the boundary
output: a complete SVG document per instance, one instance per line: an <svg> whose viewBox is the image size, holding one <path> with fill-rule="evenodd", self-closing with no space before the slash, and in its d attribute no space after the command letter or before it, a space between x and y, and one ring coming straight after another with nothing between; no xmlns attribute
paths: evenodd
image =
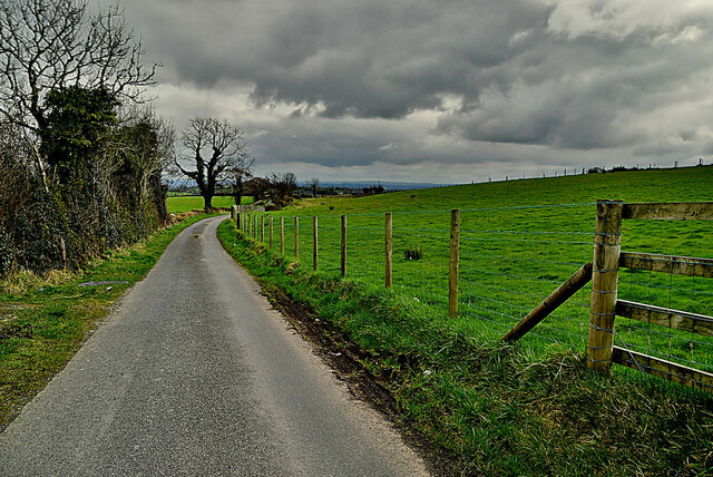
<svg viewBox="0 0 713 477"><path fill-rule="evenodd" d="M117 300L156 264L186 218L78 273L19 272L0 284L0 431L59 372ZM84 282L125 282L79 286Z"/></svg>

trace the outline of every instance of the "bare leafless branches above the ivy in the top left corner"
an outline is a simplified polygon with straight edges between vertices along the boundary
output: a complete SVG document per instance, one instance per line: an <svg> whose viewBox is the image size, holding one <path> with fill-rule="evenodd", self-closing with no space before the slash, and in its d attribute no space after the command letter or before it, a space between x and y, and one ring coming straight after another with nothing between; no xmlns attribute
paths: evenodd
<svg viewBox="0 0 713 477"><path fill-rule="evenodd" d="M138 99L157 65L143 62L119 7L96 14L84 0L0 0L0 114L31 130L47 126L52 89L105 89Z"/></svg>

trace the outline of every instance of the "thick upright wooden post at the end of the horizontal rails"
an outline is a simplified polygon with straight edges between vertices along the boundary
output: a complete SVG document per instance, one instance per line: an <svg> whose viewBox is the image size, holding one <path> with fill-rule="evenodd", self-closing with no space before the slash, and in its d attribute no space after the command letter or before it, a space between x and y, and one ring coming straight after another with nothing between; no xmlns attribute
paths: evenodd
<svg viewBox="0 0 713 477"><path fill-rule="evenodd" d="M592 270L587 368L612 367L614 318L622 244L622 202L597 201Z"/></svg>

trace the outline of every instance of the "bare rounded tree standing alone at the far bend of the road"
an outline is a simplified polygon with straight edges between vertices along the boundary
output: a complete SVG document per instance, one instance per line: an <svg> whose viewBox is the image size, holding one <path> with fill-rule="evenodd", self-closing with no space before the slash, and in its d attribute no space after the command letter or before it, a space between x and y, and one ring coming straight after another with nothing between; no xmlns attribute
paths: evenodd
<svg viewBox="0 0 713 477"><path fill-rule="evenodd" d="M176 160L176 167L195 181L203 196L206 211L213 208L215 186L225 179L229 171L235 171L248 162L243 132L226 119L195 117L183 132L183 144L191 154ZM192 164L195 169L186 169L180 162Z"/></svg>

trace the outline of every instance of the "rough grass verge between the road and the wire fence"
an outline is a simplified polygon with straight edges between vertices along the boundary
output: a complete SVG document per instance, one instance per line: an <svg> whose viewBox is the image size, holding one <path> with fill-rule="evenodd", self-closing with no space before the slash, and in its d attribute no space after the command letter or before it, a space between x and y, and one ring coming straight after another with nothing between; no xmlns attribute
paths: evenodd
<svg viewBox="0 0 713 477"><path fill-rule="evenodd" d="M408 296L318 275L218 227L264 286L336 327L394 397L397 420L450 456L458 475L705 475L713 398L644 374L588 372L480 339ZM305 319L309 319L305 318ZM339 350L334 350L339 351Z"/></svg>

